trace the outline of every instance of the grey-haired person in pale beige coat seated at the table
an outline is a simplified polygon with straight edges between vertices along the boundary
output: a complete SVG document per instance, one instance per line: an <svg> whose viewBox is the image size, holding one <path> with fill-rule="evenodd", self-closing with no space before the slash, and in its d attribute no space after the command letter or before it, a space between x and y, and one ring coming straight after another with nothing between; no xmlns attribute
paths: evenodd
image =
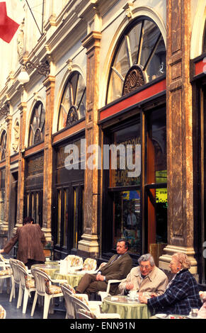
<svg viewBox="0 0 206 333"><path fill-rule="evenodd" d="M164 293L168 284L166 274L154 264L151 254L143 254L138 259L139 266L131 269L120 284L119 291L122 295L127 295L130 290L136 290L139 295L147 293L147 295Z"/></svg>

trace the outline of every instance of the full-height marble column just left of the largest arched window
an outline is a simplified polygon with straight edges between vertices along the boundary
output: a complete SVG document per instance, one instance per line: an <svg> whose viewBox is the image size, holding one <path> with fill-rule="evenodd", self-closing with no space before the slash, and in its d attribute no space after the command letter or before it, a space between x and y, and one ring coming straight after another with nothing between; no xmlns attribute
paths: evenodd
<svg viewBox="0 0 206 333"><path fill-rule="evenodd" d="M86 74L86 147L99 146L100 133L98 122L98 80L99 80L99 51L101 45L101 33L91 31L82 41L86 47L87 74ZM94 154L94 152L93 152ZM98 152L96 152L98 157ZM89 154L86 153L86 162ZM97 162L97 160L96 160ZM84 176L84 234L78 244L78 252L81 255L96 257L99 253L98 222L99 222L99 171L86 165Z"/></svg>

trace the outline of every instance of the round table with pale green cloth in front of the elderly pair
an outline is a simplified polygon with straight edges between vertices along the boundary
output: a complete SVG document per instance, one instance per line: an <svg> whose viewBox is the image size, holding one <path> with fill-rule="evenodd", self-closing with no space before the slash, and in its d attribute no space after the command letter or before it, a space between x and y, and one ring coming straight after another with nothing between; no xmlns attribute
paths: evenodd
<svg viewBox="0 0 206 333"><path fill-rule="evenodd" d="M101 308L103 312L119 313L121 319L148 319L152 315L147 304L129 300L123 295L105 297Z"/></svg>

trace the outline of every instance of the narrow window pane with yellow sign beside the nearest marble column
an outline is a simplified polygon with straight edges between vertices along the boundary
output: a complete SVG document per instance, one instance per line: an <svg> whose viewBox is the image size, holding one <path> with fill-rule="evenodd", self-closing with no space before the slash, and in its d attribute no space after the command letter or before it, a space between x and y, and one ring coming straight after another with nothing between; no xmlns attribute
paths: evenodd
<svg viewBox="0 0 206 333"><path fill-rule="evenodd" d="M148 247L167 242L166 112L147 114L147 222Z"/></svg>

